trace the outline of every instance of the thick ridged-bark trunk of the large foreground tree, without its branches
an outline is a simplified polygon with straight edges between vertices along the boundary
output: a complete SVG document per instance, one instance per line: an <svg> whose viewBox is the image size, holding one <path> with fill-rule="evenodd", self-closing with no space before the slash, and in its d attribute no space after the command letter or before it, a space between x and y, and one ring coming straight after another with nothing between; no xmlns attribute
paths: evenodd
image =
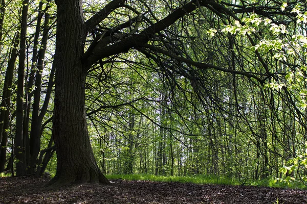
<svg viewBox="0 0 307 204"><path fill-rule="evenodd" d="M81 57L86 37L82 1L56 1L57 39L53 137L57 171L50 187L73 182L108 184L96 164L85 114L86 67Z"/></svg>

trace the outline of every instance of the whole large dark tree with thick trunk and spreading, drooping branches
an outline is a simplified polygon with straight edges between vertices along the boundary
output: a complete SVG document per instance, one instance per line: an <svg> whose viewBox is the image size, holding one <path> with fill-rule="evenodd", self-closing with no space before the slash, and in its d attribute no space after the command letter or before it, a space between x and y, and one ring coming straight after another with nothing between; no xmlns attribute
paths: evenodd
<svg viewBox="0 0 307 204"><path fill-rule="evenodd" d="M254 50L255 56L259 64L265 67L265 70L256 70L254 73L254 71L245 71L244 68L236 70L235 63L240 65L240 61L235 62L234 54L232 60L225 58L209 61L211 64L203 63L202 60L198 60L201 56L197 55L195 50L193 50L193 53L185 47L185 43L190 43L188 40L192 38L187 38L186 42L182 40L179 43L175 43L171 39L180 35L203 35L202 30L196 29L197 22L193 19L197 15L204 18L208 17L202 13L202 7L207 8L213 16L223 19L224 24L228 24L226 21L234 24L235 26L229 25L222 31L234 35L237 31L241 31L240 29L244 28L243 25L245 24L236 14L253 11L259 15L270 16L280 8L279 6L269 7L268 9L272 11L263 12L267 8L262 8L260 5L245 7L244 2L242 4L231 4L191 0L188 3L178 4L176 9L172 9L176 4L166 4L169 7L169 13L162 15L161 18L153 15L152 19L148 19L135 8L125 5L124 0L114 0L85 21L81 0L56 0L55 2L57 5L57 33L53 63L56 69L53 138L58 159L56 175L51 182L52 186L69 184L75 181L108 183L94 159L87 131L84 89L86 75L90 68L102 68L105 64L104 60L109 57L128 53L131 49L137 50L149 60L161 64L159 71L167 75L168 80L176 81L175 86L178 86L179 89L185 86L184 80L181 80L181 77L184 77L191 82L193 90L198 94L204 106L208 105L208 98L213 96L210 99L214 101L214 106L220 107L224 112L227 112L223 108L223 99L225 100L226 96L220 94L222 91L219 89L208 90L204 86L203 82L207 80L210 74L216 74L215 71L240 74L257 84L262 84L267 76L274 77L274 70L268 68L269 64L257 50ZM144 5L150 8L149 3L144 3ZM129 18L125 20L124 17L119 19L115 15L108 19L109 22L102 23L108 15L111 15L120 7L125 8L123 13L131 12L135 13L136 16L131 18L129 15ZM194 12L195 10L199 10L199 12ZM189 13L192 14L186 17L186 21L182 21L182 24L176 24L178 19L184 18ZM121 12L115 12L115 14L122 15ZM201 18L198 18L198 20L201 23ZM231 23L233 21L234 23ZM193 28L189 27L187 22L192 22ZM143 24L139 31L141 23ZM106 27L104 24L109 24L109 27L112 28ZM179 28L178 33L171 33L171 30L162 32L172 24L176 24L176 26L173 26L174 31ZM220 27L220 23L217 23L217 26ZM211 31L214 36L216 30ZM244 32L247 31L242 30L242 33ZM254 35L257 39L257 34ZM227 38L227 36L232 38L228 33L223 37ZM86 39L91 39L91 44L87 45ZM249 37L248 40L253 46L255 45L254 39ZM148 43L149 41L150 43ZM221 42L221 46L224 46L224 43L225 40ZM201 44L199 47L205 49L206 45ZM234 52L233 49L234 46L231 47L231 52ZM239 48L236 47L236 49L236 52L240 52ZM220 49L218 52L224 55L227 53L227 49ZM170 63L168 63L169 61ZM226 64L226 68L224 68L224 64ZM210 72L208 69L214 71ZM175 73L178 74L178 77L174 77ZM221 78L225 75L220 74ZM211 94L215 94L215 92L221 97L215 98ZM212 123L214 117L218 117L218 115L212 114ZM214 131L215 129L212 130L211 134ZM214 149L216 150L216 148ZM217 157L217 154L215 154L215 157ZM214 164L217 163L217 159L214 160ZM214 171L217 171L216 169Z"/></svg>

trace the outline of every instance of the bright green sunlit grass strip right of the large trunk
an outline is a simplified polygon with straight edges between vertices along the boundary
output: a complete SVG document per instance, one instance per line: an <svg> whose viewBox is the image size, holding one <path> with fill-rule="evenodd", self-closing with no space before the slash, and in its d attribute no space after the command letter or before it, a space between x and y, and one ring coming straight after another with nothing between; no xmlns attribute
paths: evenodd
<svg viewBox="0 0 307 204"><path fill-rule="evenodd" d="M218 176L162 176L152 174L112 174L105 175L109 180L123 179L133 181L155 181L155 182L180 182L180 183L193 183L193 184L216 184L216 185L246 185L246 186L263 186L274 188L292 188L292 189L307 189L303 184L285 184L276 183L274 178L264 180L245 180L239 181L227 177Z"/></svg>

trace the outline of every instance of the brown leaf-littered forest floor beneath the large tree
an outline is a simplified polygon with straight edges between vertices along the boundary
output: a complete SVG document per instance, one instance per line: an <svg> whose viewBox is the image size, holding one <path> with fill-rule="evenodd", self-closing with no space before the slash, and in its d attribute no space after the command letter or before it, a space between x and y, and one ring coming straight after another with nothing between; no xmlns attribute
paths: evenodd
<svg viewBox="0 0 307 204"><path fill-rule="evenodd" d="M0 177L0 203L307 203L307 191L294 189L117 180L44 190L47 182Z"/></svg>

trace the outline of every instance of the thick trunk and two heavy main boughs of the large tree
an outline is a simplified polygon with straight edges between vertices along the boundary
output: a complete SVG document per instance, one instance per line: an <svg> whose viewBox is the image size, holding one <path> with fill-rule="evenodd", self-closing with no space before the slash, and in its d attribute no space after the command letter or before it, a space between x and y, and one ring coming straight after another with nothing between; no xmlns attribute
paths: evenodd
<svg viewBox="0 0 307 204"><path fill-rule="evenodd" d="M111 36L113 33L110 31L107 34L109 37L101 34L84 53L87 33L124 3L124 0L114 0L85 22L81 0L56 1L53 137L57 152L57 171L50 183L52 187L76 181L108 183L96 164L87 131L84 96L87 70L105 57L128 52L131 47L145 46L156 33L198 8L196 1L191 1L135 36L123 34L118 38ZM131 34L134 32L131 31ZM117 38L119 42L106 46L111 43L112 38Z"/></svg>

